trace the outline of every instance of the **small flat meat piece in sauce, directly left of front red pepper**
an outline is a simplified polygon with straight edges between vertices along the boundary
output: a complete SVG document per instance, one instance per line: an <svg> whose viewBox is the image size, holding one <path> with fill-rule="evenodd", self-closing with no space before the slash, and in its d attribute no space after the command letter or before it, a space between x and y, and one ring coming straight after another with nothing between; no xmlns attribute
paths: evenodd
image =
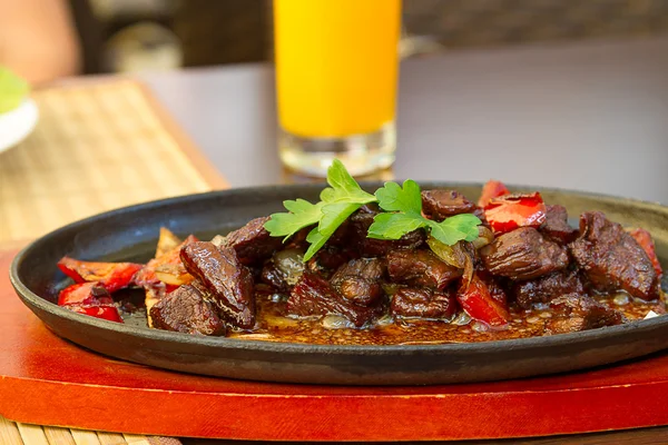
<svg viewBox="0 0 668 445"><path fill-rule="evenodd" d="M392 298L390 312L399 317L451 318L456 312L456 298L451 289L400 289Z"/></svg>

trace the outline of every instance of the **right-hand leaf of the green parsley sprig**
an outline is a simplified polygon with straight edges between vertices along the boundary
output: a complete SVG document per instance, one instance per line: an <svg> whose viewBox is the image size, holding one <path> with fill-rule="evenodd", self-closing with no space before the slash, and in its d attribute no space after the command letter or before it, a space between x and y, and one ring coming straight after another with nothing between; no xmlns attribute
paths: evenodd
<svg viewBox="0 0 668 445"><path fill-rule="evenodd" d="M396 182L385 182L384 187L376 190L375 196L379 206L392 212L376 215L369 228L369 238L399 239L421 227L448 246L478 238L481 221L475 215L455 215L441 222L423 217L420 186L412 179L405 180L403 188Z"/></svg>

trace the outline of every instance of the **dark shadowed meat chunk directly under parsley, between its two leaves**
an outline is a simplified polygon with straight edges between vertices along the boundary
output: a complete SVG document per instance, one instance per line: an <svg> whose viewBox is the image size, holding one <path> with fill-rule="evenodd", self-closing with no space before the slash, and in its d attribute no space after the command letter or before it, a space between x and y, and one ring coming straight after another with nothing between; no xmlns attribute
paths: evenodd
<svg viewBox="0 0 668 445"><path fill-rule="evenodd" d="M355 248L360 256L380 257L397 249L415 249L426 240L424 230L418 229L410 231L396 240L372 239L367 238L369 227L373 218L380 212L376 205L370 204L362 206L350 218L347 227L346 246Z"/></svg>

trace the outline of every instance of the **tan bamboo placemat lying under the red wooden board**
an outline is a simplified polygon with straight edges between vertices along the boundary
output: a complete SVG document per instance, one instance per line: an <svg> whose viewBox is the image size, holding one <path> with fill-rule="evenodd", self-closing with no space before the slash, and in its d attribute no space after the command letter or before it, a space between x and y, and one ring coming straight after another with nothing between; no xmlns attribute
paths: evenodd
<svg viewBox="0 0 668 445"><path fill-rule="evenodd" d="M141 83L72 83L32 95L35 132L0 154L0 245L153 199L226 187ZM2 445L176 445L175 438L17 424Z"/></svg>

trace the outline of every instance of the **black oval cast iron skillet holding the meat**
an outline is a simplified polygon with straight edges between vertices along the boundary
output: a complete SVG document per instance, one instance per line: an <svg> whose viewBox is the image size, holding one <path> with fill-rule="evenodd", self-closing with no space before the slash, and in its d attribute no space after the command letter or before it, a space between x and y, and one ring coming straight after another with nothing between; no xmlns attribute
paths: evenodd
<svg viewBox="0 0 668 445"><path fill-rule="evenodd" d="M365 184L375 189L380 184ZM478 198L480 185L455 188ZM322 186L235 189L193 195L101 214L52 231L23 249L10 276L19 297L56 334L111 357L194 374L269 382L344 385L422 385L499 380L581 369L668 347L668 316L548 337L472 344L335 346L196 337L121 325L75 314L48 299L63 285L56 263L79 259L147 260L160 226L204 239L283 209L297 197L317 200ZM531 190L512 187L512 190ZM547 202L569 215L602 210L625 226L644 227L668 257L668 207L574 191L542 189ZM576 219L577 221L577 219Z"/></svg>

